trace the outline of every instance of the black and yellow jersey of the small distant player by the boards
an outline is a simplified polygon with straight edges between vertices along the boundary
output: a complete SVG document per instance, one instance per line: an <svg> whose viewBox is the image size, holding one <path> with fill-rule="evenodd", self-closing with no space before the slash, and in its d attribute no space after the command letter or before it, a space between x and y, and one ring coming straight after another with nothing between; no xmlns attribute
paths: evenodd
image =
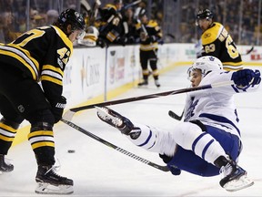
<svg viewBox="0 0 262 197"><path fill-rule="evenodd" d="M140 35L140 33L142 32L148 35L148 38L146 40L140 41L140 50L149 51L149 50L154 50L158 48L157 40L161 39L163 34L162 34L162 30L160 26L158 26L155 20L149 20L146 25L137 23L136 30L138 31L138 35ZM156 36L156 39L154 42L152 42L152 39L150 39L150 36Z"/></svg>

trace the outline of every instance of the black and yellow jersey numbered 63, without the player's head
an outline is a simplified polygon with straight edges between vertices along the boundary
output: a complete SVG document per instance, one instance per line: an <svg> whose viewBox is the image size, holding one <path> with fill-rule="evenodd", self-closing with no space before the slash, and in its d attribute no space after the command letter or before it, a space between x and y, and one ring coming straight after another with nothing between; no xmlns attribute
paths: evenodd
<svg viewBox="0 0 262 197"><path fill-rule="evenodd" d="M220 59L226 70L238 70L243 68L241 55L228 34L227 29L215 22L201 36L203 52L202 56L214 56Z"/></svg>

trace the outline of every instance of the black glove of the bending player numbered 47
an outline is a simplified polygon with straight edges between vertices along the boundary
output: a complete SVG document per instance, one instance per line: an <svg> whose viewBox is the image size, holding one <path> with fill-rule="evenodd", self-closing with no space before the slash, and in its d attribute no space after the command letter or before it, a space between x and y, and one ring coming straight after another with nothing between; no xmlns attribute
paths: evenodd
<svg viewBox="0 0 262 197"><path fill-rule="evenodd" d="M55 123L56 123L62 118L66 105L66 99L65 97L61 96L59 100L50 102L50 104L51 104L51 111L55 117Z"/></svg>

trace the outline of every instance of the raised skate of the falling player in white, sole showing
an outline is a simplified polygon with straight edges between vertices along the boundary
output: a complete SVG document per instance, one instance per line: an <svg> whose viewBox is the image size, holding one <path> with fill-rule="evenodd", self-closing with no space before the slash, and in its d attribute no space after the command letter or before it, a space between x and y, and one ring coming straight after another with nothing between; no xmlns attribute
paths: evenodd
<svg viewBox="0 0 262 197"><path fill-rule="evenodd" d="M102 121L105 121L107 124L116 127L116 129L120 130L121 133L130 135L133 140L139 137L141 133L140 128L136 128L129 119L126 119L126 117L123 117L113 109L106 107L96 107L96 109L97 116Z"/></svg>

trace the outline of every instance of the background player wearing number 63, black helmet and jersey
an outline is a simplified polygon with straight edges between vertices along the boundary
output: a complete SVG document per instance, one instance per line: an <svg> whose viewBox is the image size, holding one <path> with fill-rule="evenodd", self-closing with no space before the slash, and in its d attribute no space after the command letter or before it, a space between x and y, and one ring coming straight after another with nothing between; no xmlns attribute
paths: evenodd
<svg viewBox="0 0 262 197"><path fill-rule="evenodd" d="M213 13L208 9L199 10L196 15L196 26L202 30L202 57L217 57L225 70L242 69L243 62L236 44L227 29L213 18Z"/></svg>

